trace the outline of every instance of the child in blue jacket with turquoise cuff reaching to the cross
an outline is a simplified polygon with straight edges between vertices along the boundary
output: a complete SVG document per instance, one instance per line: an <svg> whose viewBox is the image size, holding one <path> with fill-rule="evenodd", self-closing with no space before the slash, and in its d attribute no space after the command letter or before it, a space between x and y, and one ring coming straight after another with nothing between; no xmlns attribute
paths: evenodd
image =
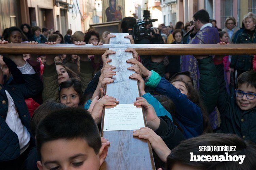
<svg viewBox="0 0 256 170"><path fill-rule="evenodd" d="M191 84L183 80L174 80L172 83L154 71L148 71L141 63L134 59L127 62L138 64L142 75L148 77L146 85L155 88L160 94L168 96L176 106L175 120L183 130L186 138L196 137L204 132L204 118L198 93Z"/></svg>

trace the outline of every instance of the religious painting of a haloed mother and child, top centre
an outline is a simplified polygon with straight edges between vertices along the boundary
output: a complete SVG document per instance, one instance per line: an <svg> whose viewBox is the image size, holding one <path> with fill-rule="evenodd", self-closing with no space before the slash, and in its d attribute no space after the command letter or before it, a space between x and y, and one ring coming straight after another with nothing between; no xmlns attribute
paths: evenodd
<svg viewBox="0 0 256 170"><path fill-rule="evenodd" d="M121 21L125 17L124 0L103 0L102 19L103 22Z"/></svg>

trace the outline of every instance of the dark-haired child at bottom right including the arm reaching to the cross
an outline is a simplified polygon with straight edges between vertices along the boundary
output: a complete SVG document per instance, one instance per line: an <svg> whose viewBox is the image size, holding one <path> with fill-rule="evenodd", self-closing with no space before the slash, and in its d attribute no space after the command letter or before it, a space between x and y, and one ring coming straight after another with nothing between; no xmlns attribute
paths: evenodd
<svg viewBox="0 0 256 170"><path fill-rule="evenodd" d="M133 136L149 140L154 152L166 163L167 170L256 168L256 145L235 134L206 133L183 140L174 149L169 149L163 139L148 127L134 130Z"/></svg>

